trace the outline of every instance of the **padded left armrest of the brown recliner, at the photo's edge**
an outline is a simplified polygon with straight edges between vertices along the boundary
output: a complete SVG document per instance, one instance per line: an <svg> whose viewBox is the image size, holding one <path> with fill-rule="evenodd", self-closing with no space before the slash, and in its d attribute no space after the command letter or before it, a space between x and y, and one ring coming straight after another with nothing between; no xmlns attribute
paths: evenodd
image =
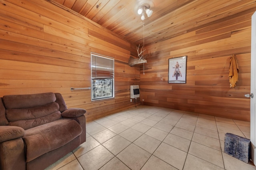
<svg viewBox="0 0 256 170"><path fill-rule="evenodd" d="M0 126L0 143L23 137L26 131L18 126Z"/></svg>

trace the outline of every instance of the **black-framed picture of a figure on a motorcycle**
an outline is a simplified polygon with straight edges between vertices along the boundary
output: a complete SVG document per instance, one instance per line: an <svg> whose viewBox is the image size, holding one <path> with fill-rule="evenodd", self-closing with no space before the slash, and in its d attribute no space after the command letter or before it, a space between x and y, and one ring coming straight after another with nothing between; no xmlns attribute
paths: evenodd
<svg viewBox="0 0 256 170"><path fill-rule="evenodd" d="M169 59L168 83L186 83L187 56Z"/></svg>

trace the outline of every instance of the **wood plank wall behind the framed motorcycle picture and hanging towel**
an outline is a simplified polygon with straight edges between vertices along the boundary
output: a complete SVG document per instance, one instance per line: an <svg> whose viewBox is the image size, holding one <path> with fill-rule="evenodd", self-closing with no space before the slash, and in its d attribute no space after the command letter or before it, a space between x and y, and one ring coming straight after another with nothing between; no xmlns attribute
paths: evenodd
<svg viewBox="0 0 256 170"><path fill-rule="evenodd" d="M255 11L255 7L234 11L232 16L147 45L148 63L144 74L140 71L141 104L250 121L250 99L244 94L250 93L251 16ZM233 54L240 71L239 82L230 88ZM186 84L168 84L168 59L185 55Z"/></svg>

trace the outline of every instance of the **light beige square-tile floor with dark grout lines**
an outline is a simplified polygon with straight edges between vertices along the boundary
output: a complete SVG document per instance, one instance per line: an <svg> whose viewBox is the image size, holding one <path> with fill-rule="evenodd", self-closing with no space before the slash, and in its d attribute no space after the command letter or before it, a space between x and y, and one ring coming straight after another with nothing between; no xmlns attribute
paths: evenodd
<svg viewBox="0 0 256 170"><path fill-rule="evenodd" d="M86 142L46 170L256 170L224 153L250 122L137 106L86 123Z"/></svg>

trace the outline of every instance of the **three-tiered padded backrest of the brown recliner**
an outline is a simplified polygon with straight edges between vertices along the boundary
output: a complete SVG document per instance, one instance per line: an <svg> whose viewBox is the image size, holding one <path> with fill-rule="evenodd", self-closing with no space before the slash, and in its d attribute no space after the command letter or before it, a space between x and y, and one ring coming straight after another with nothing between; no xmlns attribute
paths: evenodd
<svg viewBox="0 0 256 170"><path fill-rule="evenodd" d="M7 95L2 99L8 125L19 126L26 130L61 118L60 106L52 92Z"/></svg>

